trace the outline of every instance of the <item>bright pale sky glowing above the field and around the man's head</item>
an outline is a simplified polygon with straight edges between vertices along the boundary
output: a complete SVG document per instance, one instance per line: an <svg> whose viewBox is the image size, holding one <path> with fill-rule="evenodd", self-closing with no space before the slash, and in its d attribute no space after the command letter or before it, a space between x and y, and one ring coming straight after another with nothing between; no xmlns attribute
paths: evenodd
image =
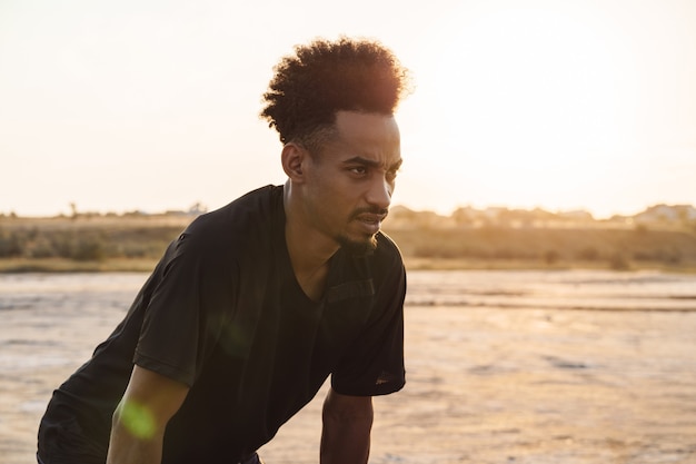
<svg viewBox="0 0 696 464"><path fill-rule="evenodd" d="M0 213L212 209L282 182L261 93L294 45L339 34L415 76L395 204L696 205L693 0L2 0Z"/></svg>

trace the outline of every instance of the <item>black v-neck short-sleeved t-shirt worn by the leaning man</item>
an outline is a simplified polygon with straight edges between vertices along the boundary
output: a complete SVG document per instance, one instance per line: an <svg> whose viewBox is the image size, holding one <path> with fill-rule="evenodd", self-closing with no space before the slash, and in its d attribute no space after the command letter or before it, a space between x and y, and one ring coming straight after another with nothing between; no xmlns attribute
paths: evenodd
<svg viewBox="0 0 696 464"><path fill-rule="evenodd" d="M167 425L163 464L252 453L329 375L347 395L400 389L406 275L394 243L384 234L377 241L367 256L339 249L331 257L317 303L292 272L282 187L200 216L169 246L121 324L54 392L42 427L68 417L69 440L106 458L133 363L190 387Z"/></svg>

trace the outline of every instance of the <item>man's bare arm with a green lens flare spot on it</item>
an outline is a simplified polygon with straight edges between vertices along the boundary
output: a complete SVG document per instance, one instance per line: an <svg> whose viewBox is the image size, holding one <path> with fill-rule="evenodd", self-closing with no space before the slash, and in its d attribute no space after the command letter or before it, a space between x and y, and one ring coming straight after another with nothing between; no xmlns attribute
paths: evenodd
<svg viewBox="0 0 696 464"><path fill-rule="evenodd" d="M139 366L113 413L107 464L159 464L167 422L188 386Z"/></svg>

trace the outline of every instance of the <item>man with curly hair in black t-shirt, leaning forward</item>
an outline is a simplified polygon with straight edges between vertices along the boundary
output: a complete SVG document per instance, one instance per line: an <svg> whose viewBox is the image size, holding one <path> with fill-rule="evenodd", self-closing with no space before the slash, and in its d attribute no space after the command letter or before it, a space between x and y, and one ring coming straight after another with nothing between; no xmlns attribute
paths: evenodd
<svg viewBox="0 0 696 464"><path fill-rule="evenodd" d="M259 463L325 379L320 461L367 463L374 395L405 384L406 276L379 231L406 71L377 42L284 58L261 116L288 180L197 218L125 319L54 393L38 458Z"/></svg>

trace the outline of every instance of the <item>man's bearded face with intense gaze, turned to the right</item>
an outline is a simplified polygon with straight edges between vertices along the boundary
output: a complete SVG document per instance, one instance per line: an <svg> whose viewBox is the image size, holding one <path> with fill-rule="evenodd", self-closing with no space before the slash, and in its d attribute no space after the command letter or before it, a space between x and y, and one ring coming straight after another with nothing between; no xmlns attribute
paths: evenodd
<svg viewBox="0 0 696 464"><path fill-rule="evenodd" d="M394 117L339 111L336 136L318 151L304 166L306 217L340 246L374 249L401 166Z"/></svg>

